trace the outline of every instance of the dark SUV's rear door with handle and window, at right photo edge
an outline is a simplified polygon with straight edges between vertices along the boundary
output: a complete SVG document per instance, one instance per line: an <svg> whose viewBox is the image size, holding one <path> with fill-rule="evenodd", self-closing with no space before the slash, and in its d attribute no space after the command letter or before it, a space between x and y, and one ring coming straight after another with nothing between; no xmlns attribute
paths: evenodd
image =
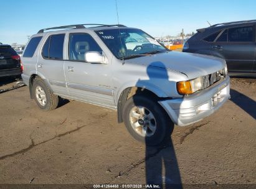
<svg viewBox="0 0 256 189"><path fill-rule="evenodd" d="M252 72L255 60L253 25L223 30L212 43L212 55L222 57L230 72Z"/></svg>

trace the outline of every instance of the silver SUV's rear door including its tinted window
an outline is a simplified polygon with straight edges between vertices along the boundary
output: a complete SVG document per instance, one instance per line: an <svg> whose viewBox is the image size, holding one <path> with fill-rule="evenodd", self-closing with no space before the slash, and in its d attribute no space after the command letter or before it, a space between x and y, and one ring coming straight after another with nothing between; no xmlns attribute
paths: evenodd
<svg viewBox="0 0 256 189"><path fill-rule="evenodd" d="M68 94L64 75L64 39L65 34L47 36L37 62L37 74L42 75L59 95Z"/></svg>

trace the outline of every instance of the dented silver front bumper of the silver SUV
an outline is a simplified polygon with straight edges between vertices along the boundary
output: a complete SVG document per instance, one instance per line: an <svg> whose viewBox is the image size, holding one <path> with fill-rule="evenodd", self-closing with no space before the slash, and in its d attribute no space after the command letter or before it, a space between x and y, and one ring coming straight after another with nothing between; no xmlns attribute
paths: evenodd
<svg viewBox="0 0 256 189"><path fill-rule="evenodd" d="M230 78L226 76L217 85L200 93L184 96L184 98L159 101L174 124L187 126L211 115L229 99Z"/></svg>

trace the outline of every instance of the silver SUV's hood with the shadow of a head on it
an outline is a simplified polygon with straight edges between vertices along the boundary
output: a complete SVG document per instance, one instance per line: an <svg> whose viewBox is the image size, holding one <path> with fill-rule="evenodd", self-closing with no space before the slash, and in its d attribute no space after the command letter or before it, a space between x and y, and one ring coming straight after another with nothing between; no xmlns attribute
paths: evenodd
<svg viewBox="0 0 256 189"><path fill-rule="evenodd" d="M125 62L179 71L184 73L188 80L209 75L225 66L225 60L221 58L174 51L133 58Z"/></svg>

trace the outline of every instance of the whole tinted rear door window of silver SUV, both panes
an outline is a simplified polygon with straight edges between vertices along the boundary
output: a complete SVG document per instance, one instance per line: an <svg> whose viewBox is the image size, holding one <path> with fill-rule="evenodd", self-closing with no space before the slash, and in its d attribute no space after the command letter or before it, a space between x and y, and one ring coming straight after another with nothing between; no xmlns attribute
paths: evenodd
<svg viewBox="0 0 256 189"><path fill-rule="evenodd" d="M62 60L65 34L50 35L42 48L44 58Z"/></svg>

